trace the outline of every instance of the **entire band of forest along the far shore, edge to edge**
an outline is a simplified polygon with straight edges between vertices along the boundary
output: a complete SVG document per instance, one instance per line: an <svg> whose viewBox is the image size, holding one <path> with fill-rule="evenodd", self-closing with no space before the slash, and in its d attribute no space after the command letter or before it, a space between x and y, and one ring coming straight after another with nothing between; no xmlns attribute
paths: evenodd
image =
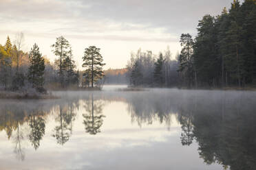
<svg viewBox="0 0 256 170"><path fill-rule="evenodd" d="M83 56L84 71L74 64L72 46L63 36L56 38L54 63L34 44L22 51L24 35L9 36L0 45L0 88L2 90L102 88L103 84L130 84L144 87L226 88L255 87L256 84L256 3L234 0L222 14L206 14L198 23L198 34L180 36L180 53L169 47L164 52L131 53L127 68L103 71L100 49L91 46ZM95 87L96 86L96 87Z"/></svg>

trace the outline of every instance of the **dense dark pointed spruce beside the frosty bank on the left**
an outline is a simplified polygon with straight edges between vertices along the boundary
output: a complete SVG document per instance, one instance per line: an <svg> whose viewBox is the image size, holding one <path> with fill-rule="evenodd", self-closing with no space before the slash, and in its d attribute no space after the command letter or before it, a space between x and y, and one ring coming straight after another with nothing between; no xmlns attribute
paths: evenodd
<svg viewBox="0 0 256 170"><path fill-rule="evenodd" d="M32 47L29 58L30 68L28 69L28 80L33 88L36 88L39 92L43 92L45 61L36 44Z"/></svg>

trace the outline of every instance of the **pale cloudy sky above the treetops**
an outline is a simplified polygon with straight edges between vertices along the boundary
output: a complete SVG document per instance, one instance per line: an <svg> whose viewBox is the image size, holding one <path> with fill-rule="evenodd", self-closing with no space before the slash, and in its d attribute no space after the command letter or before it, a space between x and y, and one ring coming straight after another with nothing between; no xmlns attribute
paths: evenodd
<svg viewBox="0 0 256 170"><path fill-rule="evenodd" d="M23 32L24 51L36 42L50 61L50 45L64 36L72 45L78 69L86 47L100 48L104 69L126 66L131 51L167 47L173 58L182 33L196 35L205 14L221 14L232 0L0 0L0 44Z"/></svg>

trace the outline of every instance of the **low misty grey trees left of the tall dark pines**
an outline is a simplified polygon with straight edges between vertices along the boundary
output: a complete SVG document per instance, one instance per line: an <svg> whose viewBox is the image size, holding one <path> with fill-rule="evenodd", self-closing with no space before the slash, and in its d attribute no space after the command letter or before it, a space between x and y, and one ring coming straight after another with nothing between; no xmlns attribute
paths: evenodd
<svg viewBox="0 0 256 170"><path fill-rule="evenodd" d="M151 51L131 53L127 64L127 77L131 86L177 86L178 62L171 59L169 48L158 56Z"/></svg>

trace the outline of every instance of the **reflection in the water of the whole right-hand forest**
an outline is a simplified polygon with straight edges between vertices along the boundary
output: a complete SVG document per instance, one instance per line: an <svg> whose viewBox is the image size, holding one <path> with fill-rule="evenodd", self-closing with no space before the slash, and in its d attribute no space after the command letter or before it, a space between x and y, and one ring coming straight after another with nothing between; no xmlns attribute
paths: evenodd
<svg viewBox="0 0 256 170"><path fill-rule="evenodd" d="M207 91L205 92L207 93ZM244 93L134 95L127 97L132 120L169 122L175 114L181 125L180 142L198 143L200 158L206 164L218 163L224 169L256 169L256 99ZM212 96L211 96L212 95ZM168 123L167 123L168 126Z"/></svg>

